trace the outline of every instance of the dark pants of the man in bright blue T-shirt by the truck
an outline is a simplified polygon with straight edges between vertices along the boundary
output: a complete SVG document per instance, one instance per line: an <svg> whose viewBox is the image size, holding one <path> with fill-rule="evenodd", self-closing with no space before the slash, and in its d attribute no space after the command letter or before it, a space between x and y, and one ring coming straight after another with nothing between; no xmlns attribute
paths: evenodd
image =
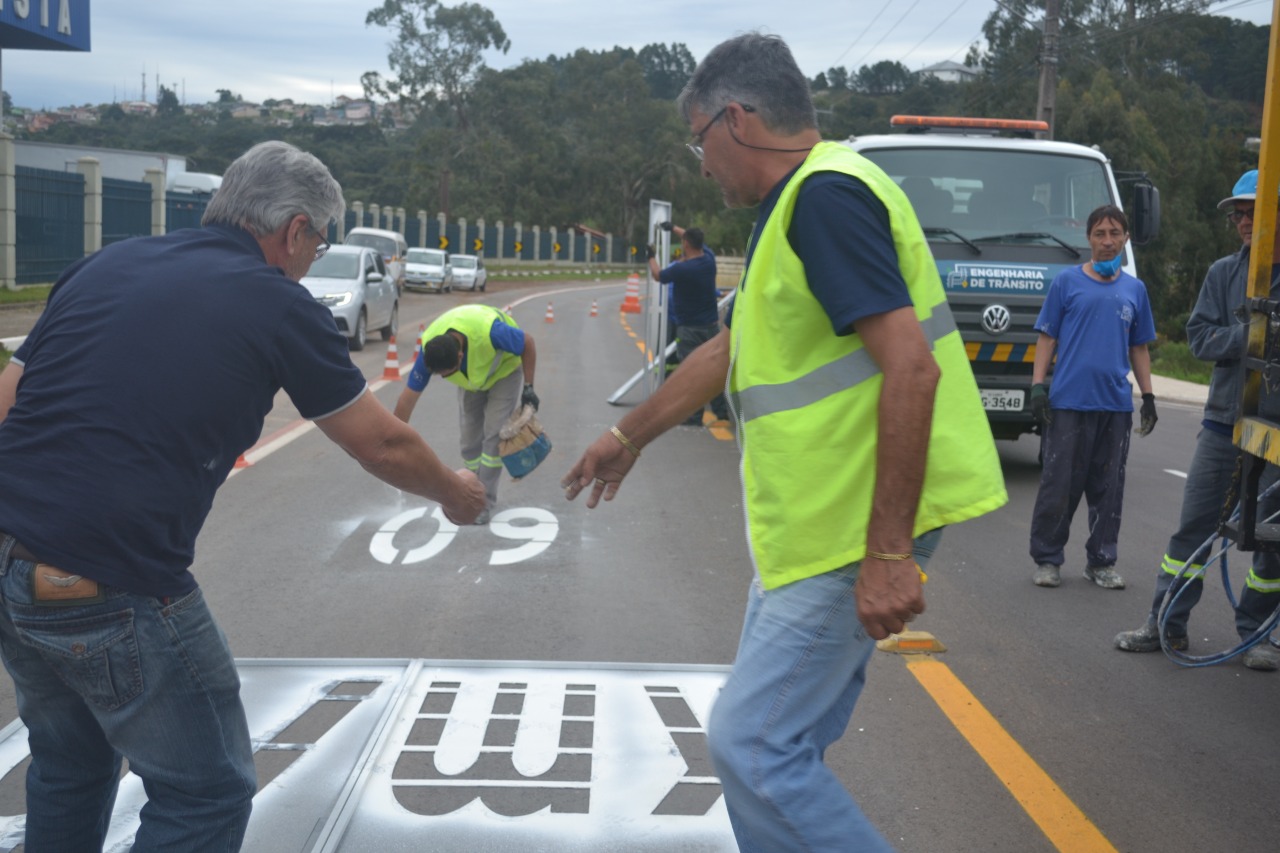
<svg viewBox="0 0 1280 853"><path fill-rule="evenodd" d="M1044 466L1032 512L1032 560L1061 566L1071 516L1083 494L1089 506L1088 565L1114 566L1129 457L1130 411L1055 409L1043 438Z"/></svg>

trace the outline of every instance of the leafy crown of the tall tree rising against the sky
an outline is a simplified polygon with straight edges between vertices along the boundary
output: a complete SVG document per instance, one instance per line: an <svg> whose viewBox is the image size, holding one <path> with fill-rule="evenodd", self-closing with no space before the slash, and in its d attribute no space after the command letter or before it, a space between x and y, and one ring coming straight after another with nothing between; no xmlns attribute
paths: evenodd
<svg viewBox="0 0 1280 853"><path fill-rule="evenodd" d="M467 95L485 67L483 51L511 49L493 12L476 3L444 6L436 0L383 0L365 18L365 26L370 24L396 31L387 61L397 76L383 81L366 74L361 81L401 100L443 101L466 131Z"/></svg>

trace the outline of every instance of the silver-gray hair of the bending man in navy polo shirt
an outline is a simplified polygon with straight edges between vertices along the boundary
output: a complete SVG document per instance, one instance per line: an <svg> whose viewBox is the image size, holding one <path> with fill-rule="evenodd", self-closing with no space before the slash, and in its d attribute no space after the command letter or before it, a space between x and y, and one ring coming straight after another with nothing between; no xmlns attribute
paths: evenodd
<svg viewBox="0 0 1280 853"><path fill-rule="evenodd" d="M314 155L288 142L260 142L236 159L214 193L202 225L238 225L266 237L303 214L324 231L347 210L342 187Z"/></svg>

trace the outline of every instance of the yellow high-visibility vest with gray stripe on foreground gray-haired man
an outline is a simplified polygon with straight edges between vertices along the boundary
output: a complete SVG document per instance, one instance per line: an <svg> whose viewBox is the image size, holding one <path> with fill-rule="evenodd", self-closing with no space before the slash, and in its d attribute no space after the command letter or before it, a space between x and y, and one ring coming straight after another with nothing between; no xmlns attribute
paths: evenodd
<svg viewBox="0 0 1280 853"><path fill-rule="evenodd" d="M730 392L740 420L748 535L767 589L867 556L883 377L836 336L791 250L796 195L817 172L863 181L888 210L899 265L942 377L914 535L1004 506L1004 474L937 266L902 191L870 160L820 142L783 187L733 305Z"/></svg>

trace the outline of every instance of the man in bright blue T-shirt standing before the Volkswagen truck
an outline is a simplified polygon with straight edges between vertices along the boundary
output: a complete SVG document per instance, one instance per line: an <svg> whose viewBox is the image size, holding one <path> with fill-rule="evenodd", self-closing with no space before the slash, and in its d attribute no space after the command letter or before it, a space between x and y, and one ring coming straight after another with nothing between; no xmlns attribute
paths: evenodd
<svg viewBox="0 0 1280 853"><path fill-rule="evenodd" d="M1032 514L1032 578L1057 587L1071 516L1083 494L1089 505L1084 576L1103 589L1124 589L1116 573L1124 469L1133 429L1133 370L1142 392L1139 435L1156 426L1151 353L1156 339L1146 286L1120 269L1129 220L1103 205L1085 223L1092 260L1062 270L1050 284L1036 329L1030 407L1041 421L1043 467ZM1053 364L1053 386L1046 386Z"/></svg>

